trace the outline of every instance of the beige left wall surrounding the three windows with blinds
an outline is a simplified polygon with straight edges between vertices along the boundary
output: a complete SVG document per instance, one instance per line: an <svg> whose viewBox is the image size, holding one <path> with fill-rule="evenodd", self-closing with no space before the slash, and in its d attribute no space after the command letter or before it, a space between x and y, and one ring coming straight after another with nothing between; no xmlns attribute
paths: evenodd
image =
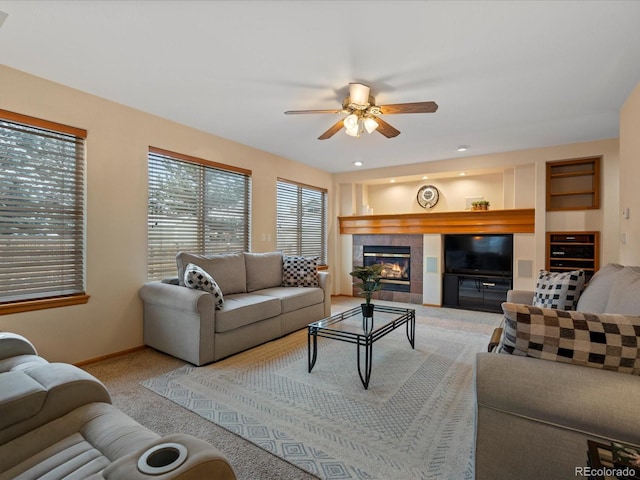
<svg viewBox="0 0 640 480"><path fill-rule="evenodd" d="M138 289L147 279L150 145L252 170L254 251L275 250L277 177L327 188L331 199L332 179L326 172L4 66L0 108L88 131L91 298L86 305L0 316L0 330L27 336L51 361L78 362L142 345Z"/></svg>

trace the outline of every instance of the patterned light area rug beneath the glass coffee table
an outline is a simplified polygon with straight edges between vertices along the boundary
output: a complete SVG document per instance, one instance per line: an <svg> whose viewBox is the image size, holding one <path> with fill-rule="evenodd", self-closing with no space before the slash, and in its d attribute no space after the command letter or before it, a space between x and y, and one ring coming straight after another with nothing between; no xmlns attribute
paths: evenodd
<svg viewBox="0 0 640 480"><path fill-rule="evenodd" d="M417 312L419 315L419 312ZM486 314L485 314L486 315ZM307 332L142 382L322 479L473 479L473 365L489 335L417 317L374 344L364 390L356 347Z"/></svg>

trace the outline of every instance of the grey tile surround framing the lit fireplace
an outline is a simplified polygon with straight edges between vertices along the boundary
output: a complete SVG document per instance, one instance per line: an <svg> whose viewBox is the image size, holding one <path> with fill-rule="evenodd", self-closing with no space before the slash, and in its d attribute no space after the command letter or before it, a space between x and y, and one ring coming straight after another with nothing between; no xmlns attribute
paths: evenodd
<svg viewBox="0 0 640 480"><path fill-rule="evenodd" d="M396 292L380 290L373 298L422 304L422 262L423 235L384 234L384 235L354 235L353 236L353 267L364 265L363 248L365 245L375 246L408 246L411 247L411 290ZM353 287L353 296L358 296L358 288Z"/></svg>

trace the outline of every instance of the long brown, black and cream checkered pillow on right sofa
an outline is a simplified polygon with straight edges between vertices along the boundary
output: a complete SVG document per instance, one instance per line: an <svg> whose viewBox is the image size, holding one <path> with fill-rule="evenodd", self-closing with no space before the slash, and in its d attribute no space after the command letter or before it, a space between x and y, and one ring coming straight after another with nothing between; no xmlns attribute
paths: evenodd
<svg viewBox="0 0 640 480"><path fill-rule="evenodd" d="M503 303L498 351L640 375L640 317Z"/></svg>

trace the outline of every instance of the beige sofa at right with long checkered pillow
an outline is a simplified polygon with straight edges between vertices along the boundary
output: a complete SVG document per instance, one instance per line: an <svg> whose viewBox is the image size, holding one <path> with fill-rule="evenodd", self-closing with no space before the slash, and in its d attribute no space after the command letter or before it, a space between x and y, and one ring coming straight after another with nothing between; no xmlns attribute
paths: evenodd
<svg viewBox="0 0 640 480"><path fill-rule="evenodd" d="M503 304L511 354L477 356L477 480L577 478L587 440L640 445L640 268L603 267L577 311L532 299Z"/></svg>

